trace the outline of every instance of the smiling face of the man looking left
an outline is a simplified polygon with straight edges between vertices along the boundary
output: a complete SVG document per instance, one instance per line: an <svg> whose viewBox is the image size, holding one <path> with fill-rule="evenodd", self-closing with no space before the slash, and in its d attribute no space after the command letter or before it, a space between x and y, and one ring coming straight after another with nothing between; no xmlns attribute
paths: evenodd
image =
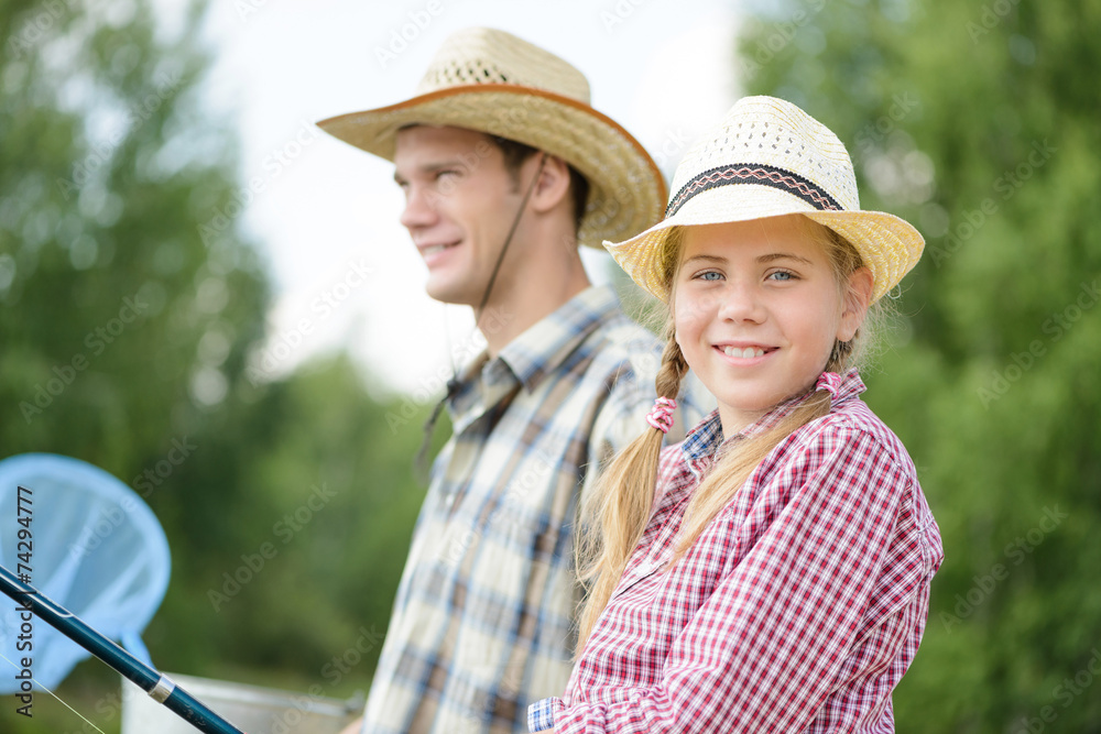
<svg viewBox="0 0 1101 734"><path fill-rule="evenodd" d="M501 150L480 132L416 125L397 132L394 165L428 295L477 307L523 198Z"/></svg>

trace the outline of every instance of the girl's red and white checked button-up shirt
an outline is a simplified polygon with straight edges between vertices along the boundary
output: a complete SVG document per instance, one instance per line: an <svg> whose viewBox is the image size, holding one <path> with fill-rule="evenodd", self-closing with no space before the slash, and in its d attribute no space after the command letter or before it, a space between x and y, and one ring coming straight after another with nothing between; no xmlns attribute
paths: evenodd
<svg viewBox="0 0 1101 734"><path fill-rule="evenodd" d="M672 568L722 443L717 413L663 452L642 541L564 698L531 708L532 731L894 731L891 691L944 551L914 464L863 390L846 375L830 414L782 441Z"/></svg>

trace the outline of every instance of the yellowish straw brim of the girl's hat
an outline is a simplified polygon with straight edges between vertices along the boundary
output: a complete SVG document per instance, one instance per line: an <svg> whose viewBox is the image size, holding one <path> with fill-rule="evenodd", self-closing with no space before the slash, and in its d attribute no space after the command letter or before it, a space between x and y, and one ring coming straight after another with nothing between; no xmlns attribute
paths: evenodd
<svg viewBox="0 0 1101 734"><path fill-rule="evenodd" d="M644 291L668 302L662 273L672 253L666 242L675 227L721 224L798 213L829 227L852 243L872 272L872 302L896 286L922 256L925 238L909 222L884 211L822 211L803 199L770 186L738 184L694 196L675 215L622 242L604 242L631 278Z"/></svg>

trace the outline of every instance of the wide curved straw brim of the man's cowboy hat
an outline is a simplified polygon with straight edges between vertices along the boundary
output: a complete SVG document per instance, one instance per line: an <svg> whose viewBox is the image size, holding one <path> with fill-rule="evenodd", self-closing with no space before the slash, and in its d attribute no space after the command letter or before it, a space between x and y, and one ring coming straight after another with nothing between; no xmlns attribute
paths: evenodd
<svg viewBox="0 0 1101 734"><path fill-rule="evenodd" d="M317 124L388 161L394 160L397 131L411 124L477 130L559 156L589 182L578 241L591 247L646 229L661 218L666 198L661 171L626 130L588 105L532 87L448 87Z"/></svg>

